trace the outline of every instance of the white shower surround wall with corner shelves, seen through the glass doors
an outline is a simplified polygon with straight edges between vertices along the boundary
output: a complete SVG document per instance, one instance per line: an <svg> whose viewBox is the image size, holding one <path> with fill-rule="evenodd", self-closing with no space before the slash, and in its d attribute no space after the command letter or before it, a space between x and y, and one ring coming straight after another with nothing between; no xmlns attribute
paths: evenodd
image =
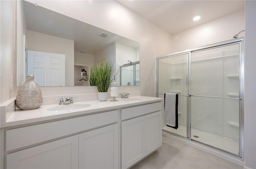
<svg viewBox="0 0 256 169"><path fill-rule="evenodd" d="M238 45L192 53L191 127L239 140ZM179 57L179 59L174 58ZM173 59L172 59L173 58ZM158 93L187 95L186 55L159 60ZM193 95L213 97L193 97ZM214 98L226 97L226 98ZM178 123L187 125L187 98L179 96ZM185 134L185 133L184 133Z"/></svg>

